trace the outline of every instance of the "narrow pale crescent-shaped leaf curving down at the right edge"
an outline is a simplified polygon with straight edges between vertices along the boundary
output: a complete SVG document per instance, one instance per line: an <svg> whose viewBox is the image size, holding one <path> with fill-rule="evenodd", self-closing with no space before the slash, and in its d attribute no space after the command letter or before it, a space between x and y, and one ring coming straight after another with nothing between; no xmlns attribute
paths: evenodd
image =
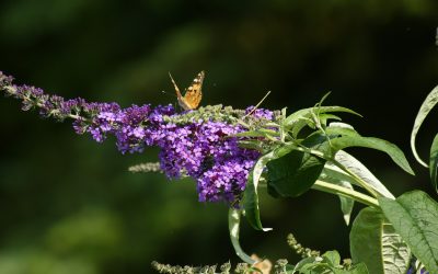
<svg viewBox="0 0 438 274"><path fill-rule="evenodd" d="M437 103L438 103L438 85L435 87L435 89L433 89L430 91L430 93L426 96L426 100L423 102L422 106L419 107L417 116L415 117L414 128L412 129L412 133L411 133L412 152L414 153L415 159L417 159L417 161L426 168L427 168L427 163L424 162L417 153L417 149L415 147L415 139L417 137L418 129L422 126L423 122L425 121L427 114L429 114L431 109L434 109L434 106Z"/></svg>

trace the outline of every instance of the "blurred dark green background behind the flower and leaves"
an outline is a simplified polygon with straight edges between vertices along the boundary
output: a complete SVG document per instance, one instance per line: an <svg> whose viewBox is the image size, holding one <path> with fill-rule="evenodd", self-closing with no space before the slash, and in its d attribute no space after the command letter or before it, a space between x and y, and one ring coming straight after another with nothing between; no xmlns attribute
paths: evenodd
<svg viewBox="0 0 438 274"><path fill-rule="evenodd" d="M168 104L168 76L187 85L206 71L203 104L245 107L272 90L265 107L289 112L327 104L365 136L401 146L417 176L381 152L350 150L395 194L431 191L413 160L408 135L437 84L438 2L404 1L88 1L0 3L0 69L18 83L65 98ZM122 156L114 139L77 136L69 122L23 113L0 99L0 273L152 273L150 262L238 262L228 240L227 206L199 204L191 180L130 174L158 151ZM435 115L436 117L436 115ZM419 151L437 130L433 118ZM242 246L275 261L297 256L291 231L310 248L348 254L349 228L336 197L309 192L263 197L264 224Z"/></svg>

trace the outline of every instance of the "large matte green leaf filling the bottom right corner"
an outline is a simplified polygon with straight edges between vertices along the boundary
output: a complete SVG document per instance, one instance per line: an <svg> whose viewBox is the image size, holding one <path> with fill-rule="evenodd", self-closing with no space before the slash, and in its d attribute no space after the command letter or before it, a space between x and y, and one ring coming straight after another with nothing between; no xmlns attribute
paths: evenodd
<svg viewBox="0 0 438 274"><path fill-rule="evenodd" d="M397 233L430 273L438 273L438 204L424 192L399 198L379 198L379 204Z"/></svg>

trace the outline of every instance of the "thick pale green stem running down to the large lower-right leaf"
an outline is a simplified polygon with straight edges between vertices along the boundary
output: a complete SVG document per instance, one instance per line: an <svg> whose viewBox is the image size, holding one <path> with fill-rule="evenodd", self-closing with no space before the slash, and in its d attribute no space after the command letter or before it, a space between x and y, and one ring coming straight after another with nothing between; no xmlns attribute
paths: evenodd
<svg viewBox="0 0 438 274"><path fill-rule="evenodd" d="M318 191L323 191L326 193L341 195L341 196L348 197L348 198L353 198L359 203L362 203L362 204L366 204L366 205L369 205L372 207L380 207L379 202L376 198L370 197L364 193L360 193L360 192L357 192L357 191L354 191L350 189L346 189L341 185L331 184L331 183L326 183L324 181L316 180L316 182L313 184L312 189L318 190Z"/></svg>

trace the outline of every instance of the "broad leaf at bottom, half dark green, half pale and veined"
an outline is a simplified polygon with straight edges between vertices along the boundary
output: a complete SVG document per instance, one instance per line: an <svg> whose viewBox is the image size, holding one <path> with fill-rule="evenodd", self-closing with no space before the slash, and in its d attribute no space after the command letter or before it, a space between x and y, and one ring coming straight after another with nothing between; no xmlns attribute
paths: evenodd
<svg viewBox="0 0 438 274"><path fill-rule="evenodd" d="M372 274L405 274L410 266L410 249L376 208L360 210L349 241L353 262L364 262Z"/></svg>

